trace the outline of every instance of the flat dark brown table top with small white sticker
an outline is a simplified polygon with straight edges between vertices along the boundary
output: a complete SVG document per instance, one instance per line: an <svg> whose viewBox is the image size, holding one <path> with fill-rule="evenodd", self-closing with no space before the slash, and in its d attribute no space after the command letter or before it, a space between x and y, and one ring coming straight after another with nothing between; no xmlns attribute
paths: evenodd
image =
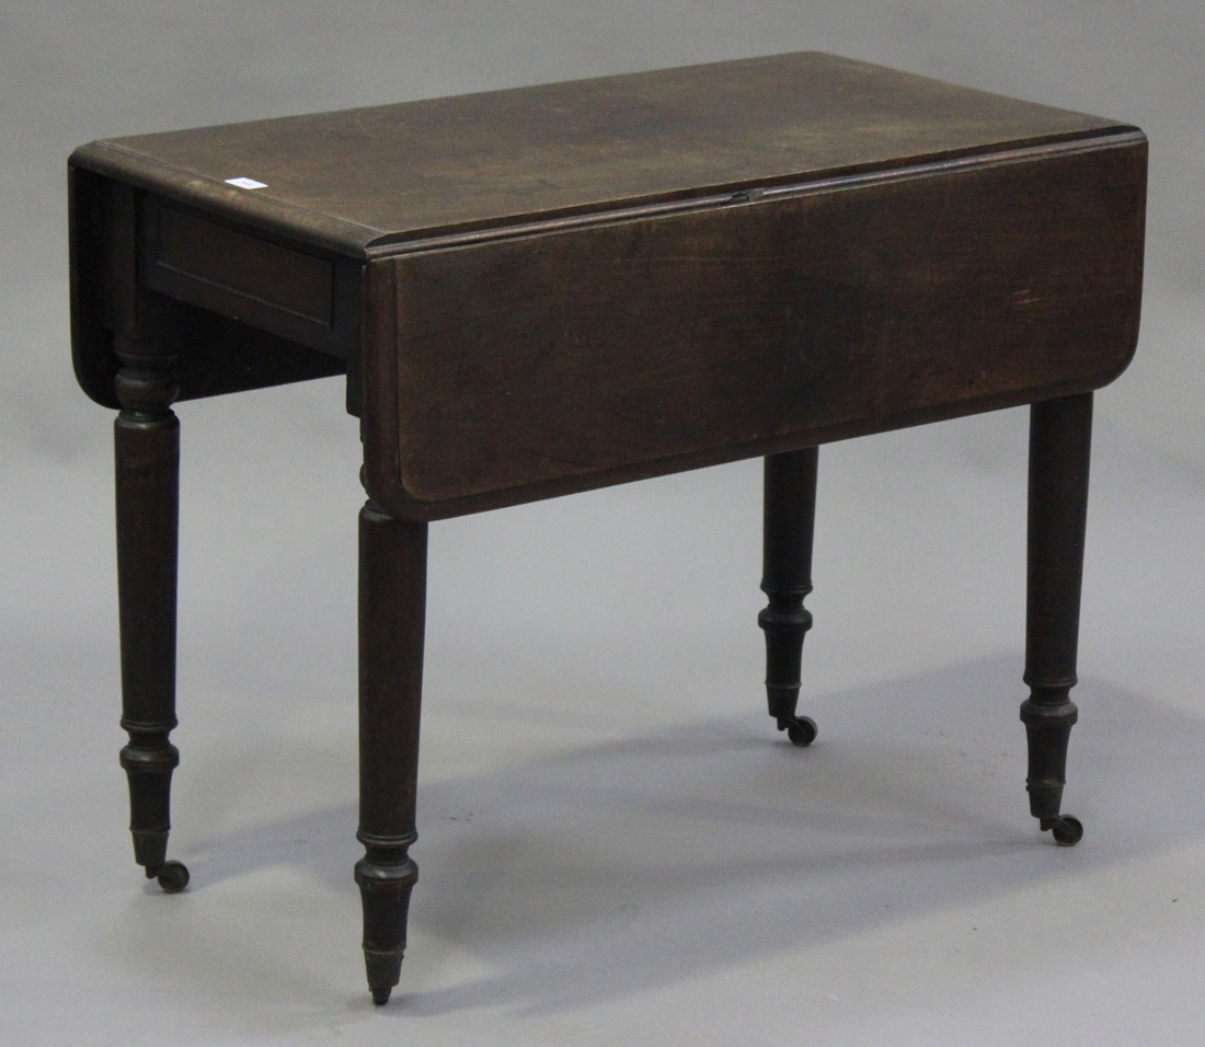
<svg viewBox="0 0 1205 1047"><path fill-rule="evenodd" d="M807 52L113 139L72 163L363 258L1131 130Z"/></svg>

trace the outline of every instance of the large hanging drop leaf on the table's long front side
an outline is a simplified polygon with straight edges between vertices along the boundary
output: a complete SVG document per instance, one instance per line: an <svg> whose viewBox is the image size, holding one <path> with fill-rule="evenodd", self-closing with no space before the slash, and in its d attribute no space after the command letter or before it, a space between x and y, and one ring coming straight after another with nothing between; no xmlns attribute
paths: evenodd
<svg viewBox="0 0 1205 1047"><path fill-rule="evenodd" d="M521 501L1095 388L1134 349L1144 199L1130 142L394 259L369 396L395 398L399 495Z"/></svg>

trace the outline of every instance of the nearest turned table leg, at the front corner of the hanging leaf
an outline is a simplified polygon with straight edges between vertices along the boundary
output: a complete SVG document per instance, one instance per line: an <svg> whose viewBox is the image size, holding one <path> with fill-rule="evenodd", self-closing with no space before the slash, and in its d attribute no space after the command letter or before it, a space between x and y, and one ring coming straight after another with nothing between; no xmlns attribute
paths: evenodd
<svg viewBox="0 0 1205 1047"><path fill-rule="evenodd" d="M427 524L360 512L360 828L355 882L364 906L364 963L376 1004L401 975L418 866L418 720L423 688Z"/></svg>

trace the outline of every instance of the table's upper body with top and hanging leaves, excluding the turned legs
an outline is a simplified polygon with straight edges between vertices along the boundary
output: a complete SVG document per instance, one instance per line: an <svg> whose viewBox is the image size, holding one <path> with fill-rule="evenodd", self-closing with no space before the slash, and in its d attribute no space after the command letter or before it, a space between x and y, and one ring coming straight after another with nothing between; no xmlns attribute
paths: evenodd
<svg viewBox="0 0 1205 1047"><path fill-rule="evenodd" d="M223 333L186 304L242 330L181 398L342 366L369 493L406 519L1087 392L1138 333L1140 131L831 55L96 142L72 169L81 277L124 278L104 187L134 187L142 280L205 337L189 364ZM223 264L248 242L255 266ZM112 404L77 298L77 373Z"/></svg>

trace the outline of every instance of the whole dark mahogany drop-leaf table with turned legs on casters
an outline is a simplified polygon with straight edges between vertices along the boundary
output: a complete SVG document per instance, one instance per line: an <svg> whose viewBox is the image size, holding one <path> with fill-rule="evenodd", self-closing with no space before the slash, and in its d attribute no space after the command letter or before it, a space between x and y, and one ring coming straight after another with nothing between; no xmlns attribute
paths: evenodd
<svg viewBox="0 0 1205 1047"><path fill-rule="evenodd" d="M806 745L817 446L1034 405L1029 794L1078 839L1089 405L1138 337L1136 128L809 53L99 141L69 169L75 370L120 410L123 764L169 889L171 405L330 375L369 496L355 878L378 1002L417 878L429 520L764 457L766 694Z"/></svg>

